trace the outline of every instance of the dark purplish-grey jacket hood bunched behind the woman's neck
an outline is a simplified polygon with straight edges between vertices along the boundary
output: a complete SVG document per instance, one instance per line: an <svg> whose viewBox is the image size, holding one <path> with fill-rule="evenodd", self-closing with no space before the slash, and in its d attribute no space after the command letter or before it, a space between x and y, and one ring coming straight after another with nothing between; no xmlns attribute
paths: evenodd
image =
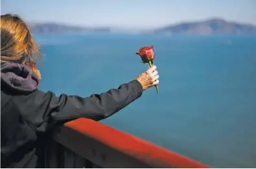
<svg viewBox="0 0 256 169"><path fill-rule="evenodd" d="M1 64L1 85L14 92L31 93L38 89L39 83L29 66L13 62Z"/></svg>

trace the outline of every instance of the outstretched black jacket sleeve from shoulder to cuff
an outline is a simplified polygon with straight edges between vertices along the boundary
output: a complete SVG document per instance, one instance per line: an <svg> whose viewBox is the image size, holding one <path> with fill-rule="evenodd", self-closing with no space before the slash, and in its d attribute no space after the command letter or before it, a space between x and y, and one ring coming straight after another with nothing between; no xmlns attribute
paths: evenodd
<svg viewBox="0 0 256 169"><path fill-rule="evenodd" d="M52 126L76 118L102 120L110 117L139 98L142 93L142 85L137 80L122 84L118 89L86 98L64 94L56 96L50 91L47 93L37 91L34 96L25 99L27 104L23 104L20 108L24 110L22 112L27 113L25 116L29 118L31 124L38 129L46 130L43 128L48 128L49 124Z"/></svg>

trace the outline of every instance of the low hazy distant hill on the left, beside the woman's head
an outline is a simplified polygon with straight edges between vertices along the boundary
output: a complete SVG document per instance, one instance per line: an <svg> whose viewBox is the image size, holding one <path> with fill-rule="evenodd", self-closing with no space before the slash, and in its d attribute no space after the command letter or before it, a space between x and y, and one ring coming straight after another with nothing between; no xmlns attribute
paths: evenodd
<svg viewBox="0 0 256 169"><path fill-rule="evenodd" d="M110 32L110 28L86 28L58 23L31 23L31 31L35 34L82 34L87 32Z"/></svg>

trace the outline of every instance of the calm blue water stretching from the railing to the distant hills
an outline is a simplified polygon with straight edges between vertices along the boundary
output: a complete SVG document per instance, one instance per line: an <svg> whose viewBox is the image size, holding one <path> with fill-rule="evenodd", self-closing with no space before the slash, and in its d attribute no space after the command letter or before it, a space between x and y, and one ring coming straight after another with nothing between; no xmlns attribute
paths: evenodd
<svg viewBox="0 0 256 169"><path fill-rule="evenodd" d="M40 89L89 96L148 69L154 87L106 120L119 130L218 168L256 167L256 36L36 35L45 54Z"/></svg>

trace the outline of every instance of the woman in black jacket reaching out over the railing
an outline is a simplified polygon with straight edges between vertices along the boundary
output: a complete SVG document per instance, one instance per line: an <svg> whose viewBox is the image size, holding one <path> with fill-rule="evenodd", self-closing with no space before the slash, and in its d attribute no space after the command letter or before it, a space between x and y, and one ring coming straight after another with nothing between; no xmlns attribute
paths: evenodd
<svg viewBox="0 0 256 169"><path fill-rule="evenodd" d="M26 64L38 56L26 23L18 16L1 16L1 168L44 167L42 138L46 131L80 117L110 117L139 98L143 90L159 84L154 66L100 95L58 97L38 90L40 80Z"/></svg>

